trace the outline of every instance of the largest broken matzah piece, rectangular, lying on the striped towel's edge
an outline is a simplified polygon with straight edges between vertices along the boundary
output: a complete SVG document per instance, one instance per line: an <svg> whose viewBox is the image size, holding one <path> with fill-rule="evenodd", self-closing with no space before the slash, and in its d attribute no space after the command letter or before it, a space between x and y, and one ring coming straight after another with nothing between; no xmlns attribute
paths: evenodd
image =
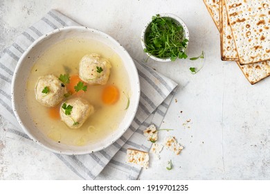
<svg viewBox="0 0 270 194"><path fill-rule="evenodd" d="M143 152L141 150L133 150L128 148L126 161L128 163L137 164L145 169L149 166L149 155L148 152Z"/></svg>

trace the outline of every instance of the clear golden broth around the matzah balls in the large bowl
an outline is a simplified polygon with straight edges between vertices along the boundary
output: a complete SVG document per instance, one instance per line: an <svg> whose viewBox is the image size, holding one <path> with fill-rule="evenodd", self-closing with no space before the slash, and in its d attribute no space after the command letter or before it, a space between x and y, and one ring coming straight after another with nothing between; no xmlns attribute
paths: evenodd
<svg viewBox="0 0 270 194"><path fill-rule="evenodd" d="M35 85L39 76L47 74L57 77L64 73L69 73L70 76L78 75L80 60L89 53L98 53L102 58L109 60L111 74L106 85L87 85L87 91L64 98L63 102L80 96L80 98L88 100L95 109L80 128L71 129L61 121L61 118L49 116L52 108L37 102ZM86 84L84 83L84 85ZM102 91L108 85L117 87L120 94L113 105L106 105L102 102ZM37 128L50 139L67 145L86 145L104 139L118 128L126 113L128 96L130 96L129 87L129 78L123 62L111 48L91 39L66 39L51 46L35 62L28 78L28 109ZM54 109L60 111L61 104Z"/></svg>

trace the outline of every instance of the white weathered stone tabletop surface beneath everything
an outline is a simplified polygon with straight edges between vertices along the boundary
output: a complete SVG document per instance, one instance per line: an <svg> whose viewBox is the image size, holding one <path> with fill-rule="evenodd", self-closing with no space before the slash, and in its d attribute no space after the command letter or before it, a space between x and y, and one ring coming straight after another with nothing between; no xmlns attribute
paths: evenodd
<svg viewBox="0 0 270 194"><path fill-rule="evenodd" d="M52 8L108 33L139 61L146 59L140 42L145 23L156 13L174 13L190 30L188 55L204 51L203 62L147 61L179 84L161 125L174 130L159 137L174 135L185 149L178 156L169 150L161 159L151 155L150 168L139 179L270 178L270 78L250 85L235 62L220 60L219 33L202 0L0 0L0 50ZM201 65L199 73L190 73ZM10 139L8 125L0 116L0 179L80 179L39 145ZM111 176L105 170L98 179Z"/></svg>

